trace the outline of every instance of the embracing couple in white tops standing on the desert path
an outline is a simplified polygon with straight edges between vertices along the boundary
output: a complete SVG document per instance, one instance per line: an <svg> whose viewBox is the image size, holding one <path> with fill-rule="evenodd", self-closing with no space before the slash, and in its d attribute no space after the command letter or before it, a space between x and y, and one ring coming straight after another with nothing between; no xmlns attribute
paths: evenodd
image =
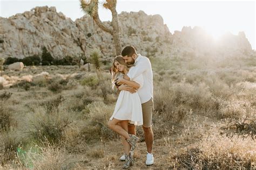
<svg viewBox="0 0 256 170"><path fill-rule="evenodd" d="M146 165L152 165L153 131L151 128L153 114L153 74L150 60L137 54L136 49L127 46L122 55L114 58L112 83L120 90L116 107L108 126L120 134L124 146L123 168L133 164L133 152L139 138L136 136L136 125L142 125L147 147Z"/></svg>

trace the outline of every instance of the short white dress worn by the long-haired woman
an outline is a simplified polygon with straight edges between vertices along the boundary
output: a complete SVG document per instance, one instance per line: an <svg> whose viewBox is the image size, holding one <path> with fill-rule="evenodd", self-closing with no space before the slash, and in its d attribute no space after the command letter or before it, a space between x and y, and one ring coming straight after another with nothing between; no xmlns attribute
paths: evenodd
<svg viewBox="0 0 256 170"><path fill-rule="evenodd" d="M132 68L133 67L131 67L130 70ZM142 74L131 81L139 83L139 88L142 88L144 82ZM140 102L138 92L132 94L126 90L120 91L116 107L114 108L114 112L110 120L113 118L129 120L129 123L138 126L143 125L142 103Z"/></svg>

